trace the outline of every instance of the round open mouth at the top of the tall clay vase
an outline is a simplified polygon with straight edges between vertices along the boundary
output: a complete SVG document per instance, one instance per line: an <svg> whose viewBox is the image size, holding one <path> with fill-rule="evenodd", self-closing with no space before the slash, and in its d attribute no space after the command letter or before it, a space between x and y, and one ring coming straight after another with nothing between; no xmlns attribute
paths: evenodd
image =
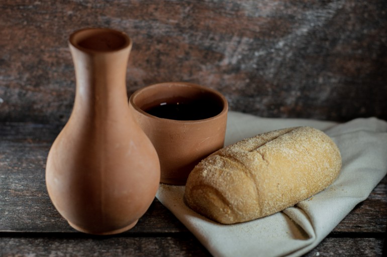
<svg viewBox="0 0 387 257"><path fill-rule="evenodd" d="M73 32L69 43L85 52L117 52L132 45L132 40L121 31L105 28L85 28Z"/></svg>

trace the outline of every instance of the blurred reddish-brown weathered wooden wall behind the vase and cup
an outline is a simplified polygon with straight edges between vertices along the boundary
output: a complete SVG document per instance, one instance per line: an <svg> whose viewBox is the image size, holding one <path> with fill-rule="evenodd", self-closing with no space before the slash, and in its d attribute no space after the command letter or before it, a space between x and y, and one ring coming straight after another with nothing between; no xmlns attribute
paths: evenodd
<svg viewBox="0 0 387 257"><path fill-rule="evenodd" d="M387 119L385 0L1 0L0 14L0 121L67 120L83 27L130 35L128 94L189 81L260 116Z"/></svg>

